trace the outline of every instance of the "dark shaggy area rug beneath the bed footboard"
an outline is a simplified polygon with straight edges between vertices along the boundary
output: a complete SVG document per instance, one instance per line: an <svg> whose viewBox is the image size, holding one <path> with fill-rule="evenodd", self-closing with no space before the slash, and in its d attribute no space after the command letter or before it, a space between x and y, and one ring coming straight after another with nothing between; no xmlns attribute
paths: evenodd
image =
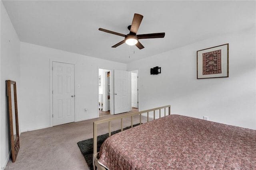
<svg viewBox="0 0 256 170"><path fill-rule="evenodd" d="M138 126L140 125L140 123L133 125L134 126ZM129 127L125 127L123 128L123 130L126 129L130 129L131 126ZM111 135L114 135L118 132L120 132L121 129L117 130L117 131L112 131ZM108 138L108 133L104 134L104 135L100 135L97 136L97 152L100 151L100 147L102 145L102 143ZM93 162L92 162L92 156L93 156L93 138L90 139L86 139L84 141L80 141L77 143L79 149L81 150L81 153L84 155L84 158L88 164L88 166L90 167L91 170L93 170Z"/></svg>

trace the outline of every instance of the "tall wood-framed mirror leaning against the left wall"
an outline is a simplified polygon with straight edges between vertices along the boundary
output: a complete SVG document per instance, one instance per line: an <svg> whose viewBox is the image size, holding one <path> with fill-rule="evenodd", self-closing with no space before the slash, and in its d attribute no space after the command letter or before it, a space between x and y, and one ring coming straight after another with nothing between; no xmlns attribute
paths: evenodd
<svg viewBox="0 0 256 170"><path fill-rule="evenodd" d="M6 85L7 85L7 98L8 98L8 112L9 112L9 117L10 117L12 162L15 162L18 151L20 149L16 82L12 81L12 80L6 80ZM14 106L14 108L13 108L13 106ZM14 112L13 112L13 109L14 109ZM15 127L14 127L14 125L15 125ZM14 134L14 133L16 133L16 134Z"/></svg>

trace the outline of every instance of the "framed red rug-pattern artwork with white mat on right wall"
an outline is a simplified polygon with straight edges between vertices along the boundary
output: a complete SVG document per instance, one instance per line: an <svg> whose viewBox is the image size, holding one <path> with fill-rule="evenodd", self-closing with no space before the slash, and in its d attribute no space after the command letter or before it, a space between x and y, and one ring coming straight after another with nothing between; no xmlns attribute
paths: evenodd
<svg viewBox="0 0 256 170"><path fill-rule="evenodd" d="M228 77L228 44L197 51L197 79Z"/></svg>

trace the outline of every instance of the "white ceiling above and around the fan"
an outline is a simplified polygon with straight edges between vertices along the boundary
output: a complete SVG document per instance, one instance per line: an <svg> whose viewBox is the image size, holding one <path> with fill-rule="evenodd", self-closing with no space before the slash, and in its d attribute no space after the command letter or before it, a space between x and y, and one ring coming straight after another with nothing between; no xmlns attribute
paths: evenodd
<svg viewBox="0 0 256 170"><path fill-rule="evenodd" d="M20 41L120 63L255 26L254 1L3 0L3 4ZM144 16L138 34L165 32L165 37L141 39L145 47L141 50L125 43L111 48L124 37L98 28L127 34L134 13Z"/></svg>

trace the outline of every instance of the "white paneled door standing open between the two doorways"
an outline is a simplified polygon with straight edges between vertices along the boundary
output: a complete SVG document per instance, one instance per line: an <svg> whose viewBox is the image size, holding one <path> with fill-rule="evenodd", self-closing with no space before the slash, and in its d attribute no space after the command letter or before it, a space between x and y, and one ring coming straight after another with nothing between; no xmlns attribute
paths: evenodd
<svg viewBox="0 0 256 170"><path fill-rule="evenodd" d="M130 111L128 83L128 71L114 70L114 114Z"/></svg>

